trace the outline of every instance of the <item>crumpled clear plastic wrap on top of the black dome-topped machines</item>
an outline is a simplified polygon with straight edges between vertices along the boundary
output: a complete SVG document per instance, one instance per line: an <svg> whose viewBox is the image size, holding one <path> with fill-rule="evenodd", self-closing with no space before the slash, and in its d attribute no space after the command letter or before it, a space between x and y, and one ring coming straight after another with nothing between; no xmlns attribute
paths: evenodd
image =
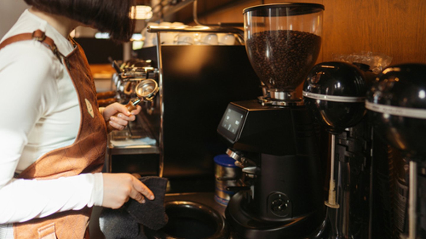
<svg viewBox="0 0 426 239"><path fill-rule="evenodd" d="M392 57L371 51L361 51L359 53L352 53L349 55L334 54L333 60L351 64L363 63L369 65L370 70L373 71L374 74L379 74L384 68L391 64Z"/></svg>

